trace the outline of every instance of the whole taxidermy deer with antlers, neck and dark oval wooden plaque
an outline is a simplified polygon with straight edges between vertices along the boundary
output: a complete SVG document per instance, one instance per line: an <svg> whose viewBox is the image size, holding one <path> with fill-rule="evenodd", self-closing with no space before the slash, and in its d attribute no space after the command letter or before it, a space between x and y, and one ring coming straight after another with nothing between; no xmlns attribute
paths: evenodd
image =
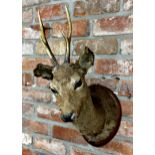
<svg viewBox="0 0 155 155"><path fill-rule="evenodd" d="M94 146L101 146L116 134L121 120L121 108L114 93L103 86L87 86L85 75L94 64L94 54L88 48L82 51L75 63L70 62L72 24L65 6L68 20L68 34L62 36L66 43L64 63L59 64L45 37L40 14L40 39L51 59L52 66L38 64L34 69L36 77L50 80L50 89L55 94L64 122L73 122L83 137Z"/></svg>

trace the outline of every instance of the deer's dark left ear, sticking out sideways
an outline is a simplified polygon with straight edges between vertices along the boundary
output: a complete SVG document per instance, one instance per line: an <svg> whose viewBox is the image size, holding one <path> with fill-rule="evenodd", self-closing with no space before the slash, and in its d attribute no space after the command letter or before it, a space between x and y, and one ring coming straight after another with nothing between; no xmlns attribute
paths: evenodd
<svg viewBox="0 0 155 155"><path fill-rule="evenodd" d="M37 67L33 70L33 73L36 77L42 77L43 79L52 80L53 67L49 65L38 64Z"/></svg>

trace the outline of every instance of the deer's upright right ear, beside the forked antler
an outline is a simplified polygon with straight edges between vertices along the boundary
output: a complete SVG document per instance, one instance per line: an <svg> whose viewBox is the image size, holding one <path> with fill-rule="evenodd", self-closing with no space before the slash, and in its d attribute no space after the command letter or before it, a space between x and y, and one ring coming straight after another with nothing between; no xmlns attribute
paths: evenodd
<svg viewBox="0 0 155 155"><path fill-rule="evenodd" d="M80 55L78 63L82 69L88 70L94 64L94 53L85 47L84 53Z"/></svg>

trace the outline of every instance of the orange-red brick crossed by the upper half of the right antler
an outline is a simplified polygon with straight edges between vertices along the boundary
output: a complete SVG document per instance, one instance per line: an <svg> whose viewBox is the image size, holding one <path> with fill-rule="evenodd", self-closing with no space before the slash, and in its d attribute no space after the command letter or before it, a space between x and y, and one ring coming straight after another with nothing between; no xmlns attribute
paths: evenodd
<svg viewBox="0 0 155 155"><path fill-rule="evenodd" d="M62 33L66 35L68 32L68 23L63 22L63 23L53 23L51 26L51 35L54 37L62 37ZM89 32L89 23L88 20L76 20L72 21L72 36L74 37L82 37L82 36L87 36Z"/></svg>

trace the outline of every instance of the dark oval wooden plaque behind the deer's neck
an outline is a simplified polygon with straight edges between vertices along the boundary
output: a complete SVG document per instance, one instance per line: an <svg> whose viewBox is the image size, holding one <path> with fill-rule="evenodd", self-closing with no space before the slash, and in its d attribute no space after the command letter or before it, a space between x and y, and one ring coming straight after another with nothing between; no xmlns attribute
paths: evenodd
<svg viewBox="0 0 155 155"><path fill-rule="evenodd" d="M96 112L101 116L100 122L93 124L98 126L101 124L102 129L99 133L87 134L81 132L85 140L93 146L102 146L109 142L117 133L121 121L121 106L116 95L108 88L101 85L89 86L91 98ZM91 113L93 115L94 113ZM92 118L94 116L91 116ZM87 122L87 123L90 123ZM92 126L92 129L94 127Z"/></svg>

